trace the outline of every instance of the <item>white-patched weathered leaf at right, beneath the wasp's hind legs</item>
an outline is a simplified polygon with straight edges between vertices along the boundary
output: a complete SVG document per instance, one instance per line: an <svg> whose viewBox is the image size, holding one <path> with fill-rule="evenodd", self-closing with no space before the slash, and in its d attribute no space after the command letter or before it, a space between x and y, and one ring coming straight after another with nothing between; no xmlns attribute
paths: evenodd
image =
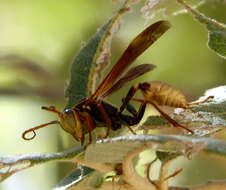
<svg viewBox="0 0 226 190"><path fill-rule="evenodd" d="M196 102L202 102L210 96L214 98L208 102L189 106L188 109L176 108L169 116L181 125L189 126L195 136L208 136L218 132L226 127L226 86L207 90ZM172 129L172 125L163 116L149 116L141 129L158 129L163 132L169 127ZM183 133L181 129L174 129Z"/></svg>

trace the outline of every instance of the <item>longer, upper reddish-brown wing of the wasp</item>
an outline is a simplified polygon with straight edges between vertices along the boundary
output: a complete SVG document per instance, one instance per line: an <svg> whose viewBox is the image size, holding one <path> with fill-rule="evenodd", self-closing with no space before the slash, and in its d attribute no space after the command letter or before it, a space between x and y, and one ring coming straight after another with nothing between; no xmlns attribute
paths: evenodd
<svg viewBox="0 0 226 190"><path fill-rule="evenodd" d="M158 21L142 33L140 33L127 47L118 62L105 77L103 82L97 88L96 92L90 97L91 100L97 100L106 91L108 91L122 73L132 64L132 62L141 55L150 45L152 45L162 34L170 28L168 21Z"/></svg>

